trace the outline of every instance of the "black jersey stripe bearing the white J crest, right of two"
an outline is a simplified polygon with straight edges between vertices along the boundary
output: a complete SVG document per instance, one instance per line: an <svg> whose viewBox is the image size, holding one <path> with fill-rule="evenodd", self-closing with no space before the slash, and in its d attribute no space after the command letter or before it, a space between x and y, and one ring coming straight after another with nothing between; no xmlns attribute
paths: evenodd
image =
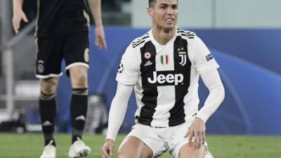
<svg viewBox="0 0 281 158"><path fill-rule="evenodd" d="M179 49L179 50L178 50ZM181 56L179 52L185 52L186 63L181 65ZM188 41L182 39L181 36L176 37L174 41L174 71L175 74L183 74L183 82L181 84L175 85L175 105L169 111L169 126L176 126L185 122L185 112L183 106L185 103L183 99L188 93L188 87L190 86L190 66L191 62L188 58Z"/></svg>

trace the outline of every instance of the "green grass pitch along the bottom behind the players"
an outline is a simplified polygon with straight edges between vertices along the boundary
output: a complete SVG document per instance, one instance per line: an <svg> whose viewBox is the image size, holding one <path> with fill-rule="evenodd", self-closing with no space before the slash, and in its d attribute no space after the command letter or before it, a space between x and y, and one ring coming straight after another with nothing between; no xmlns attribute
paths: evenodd
<svg viewBox="0 0 281 158"><path fill-rule="evenodd" d="M118 136L119 146L124 136ZM66 158L71 136L56 134L57 158ZM87 135L83 140L92 149L92 158L101 158L105 136ZM209 150L215 158L280 158L281 136L207 136ZM116 149L117 149L116 147ZM39 158L43 136L38 133L0 133L0 158ZM116 151L115 151L116 153ZM116 156L116 154L115 154ZM171 158L166 153L161 158Z"/></svg>

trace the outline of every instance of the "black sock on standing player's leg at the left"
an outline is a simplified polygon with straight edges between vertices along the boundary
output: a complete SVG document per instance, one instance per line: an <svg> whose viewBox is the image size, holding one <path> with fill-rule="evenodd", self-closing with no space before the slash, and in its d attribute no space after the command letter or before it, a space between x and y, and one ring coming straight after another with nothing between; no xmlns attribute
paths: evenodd
<svg viewBox="0 0 281 158"><path fill-rule="evenodd" d="M55 94L47 95L40 93L39 98L39 114L41 117L41 126L44 133L45 145L53 140L55 145L55 139L53 138L53 132L55 129Z"/></svg>

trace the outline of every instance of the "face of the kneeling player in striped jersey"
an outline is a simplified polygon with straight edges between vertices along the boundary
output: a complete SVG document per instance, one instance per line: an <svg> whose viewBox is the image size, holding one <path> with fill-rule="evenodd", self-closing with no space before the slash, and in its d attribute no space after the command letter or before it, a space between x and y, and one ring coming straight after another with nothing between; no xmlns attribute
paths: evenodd
<svg viewBox="0 0 281 158"><path fill-rule="evenodd" d="M177 0L157 0L155 5L148 8L148 14L157 28L169 30L176 27L178 21Z"/></svg>

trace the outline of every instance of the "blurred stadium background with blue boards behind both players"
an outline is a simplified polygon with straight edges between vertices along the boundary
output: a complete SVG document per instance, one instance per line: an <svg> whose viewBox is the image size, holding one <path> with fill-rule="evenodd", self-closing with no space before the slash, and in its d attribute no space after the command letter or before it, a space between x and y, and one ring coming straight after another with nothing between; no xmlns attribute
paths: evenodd
<svg viewBox="0 0 281 158"><path fill-rule="evenodd" d="M37 1L25 0L29 23L13 33L11 0L0 0L0 131L41 131L39 81L34 77L34 26ZM91 26L89 114L86 133L105 133L115 95L115 76L126 46L151 27L148 1L103 0L107 50L94 45ZM207 122L207 133L281 135L281 1L179 0L178 26L195 32L221 66L226 88L221 107ZM93 24L93 22L91 22ZM200 81L200 99L208 95ZM57 128L70 132L70 80L60 77ZM132 95L121 132L134 124Z"/></svg>

